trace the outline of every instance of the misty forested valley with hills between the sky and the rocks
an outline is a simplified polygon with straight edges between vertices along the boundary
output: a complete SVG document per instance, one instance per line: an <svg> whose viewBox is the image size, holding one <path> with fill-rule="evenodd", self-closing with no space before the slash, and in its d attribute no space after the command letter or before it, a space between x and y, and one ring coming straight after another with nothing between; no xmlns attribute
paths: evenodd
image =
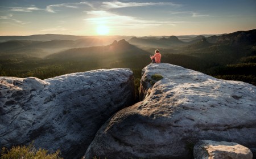
<svg viewBox="0 0 256 159"><path fill-rule="evenodd" d="M161 62L256 85L256 29L200 36L0 37L0 76L39 79L98 68L131 68L135 82L159 49Z"/></svg>

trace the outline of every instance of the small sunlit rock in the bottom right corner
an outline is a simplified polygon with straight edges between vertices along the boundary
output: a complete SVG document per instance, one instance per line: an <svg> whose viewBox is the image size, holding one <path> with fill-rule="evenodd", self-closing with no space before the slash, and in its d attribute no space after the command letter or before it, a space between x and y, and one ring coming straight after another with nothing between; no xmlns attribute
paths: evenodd
<svg viewBox="0 0 256 159"><path fill-rule="evenodd" d="M251 159L250 149L237 143L226 141L199 141L193 149L195 159Z"/></svg>

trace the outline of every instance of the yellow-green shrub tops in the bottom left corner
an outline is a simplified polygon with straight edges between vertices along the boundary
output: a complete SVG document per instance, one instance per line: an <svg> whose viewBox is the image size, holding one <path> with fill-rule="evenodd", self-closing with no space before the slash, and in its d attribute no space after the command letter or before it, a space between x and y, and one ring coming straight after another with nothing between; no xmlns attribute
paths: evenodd
<svg viewBox="0 0 256 159"><path fill-rule="evenodd" d="M60 151L56 151L55 153L48 152L45 149L39 148L35 149L34 145L30 144L26 146L14 146L10 150L5 147L2 148L1 159L62 159L60 157Z"/></svg>

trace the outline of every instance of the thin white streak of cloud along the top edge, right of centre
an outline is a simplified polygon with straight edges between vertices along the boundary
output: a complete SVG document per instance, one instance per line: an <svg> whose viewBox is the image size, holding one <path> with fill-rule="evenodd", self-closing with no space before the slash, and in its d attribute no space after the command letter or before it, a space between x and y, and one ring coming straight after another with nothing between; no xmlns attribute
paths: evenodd
<svg viewBox="0 0 256 159"><path fill-rule="evenodd" d="M124 8L124 7L142 7L142 6L181 6L172 2L146 2L146 3L138 3L138 2L129 2L129 3L123 3L119 1L115 2L102 2L102 7L104 8Z"/></svg>

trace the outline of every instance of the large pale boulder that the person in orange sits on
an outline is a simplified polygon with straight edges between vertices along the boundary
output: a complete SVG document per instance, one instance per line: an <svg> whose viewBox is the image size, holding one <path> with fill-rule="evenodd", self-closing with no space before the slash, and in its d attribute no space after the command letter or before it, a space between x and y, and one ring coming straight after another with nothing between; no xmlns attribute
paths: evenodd
<svg viewBox="0 0 256 159"><path fill-rule="evenodd" d="M254 85L167 63L150 64L142 74L143 101L109 119L86 158L191 158L193 145L204 139L232 141L255 151ZM153 80L154 74L163 79Z"/></svg>

